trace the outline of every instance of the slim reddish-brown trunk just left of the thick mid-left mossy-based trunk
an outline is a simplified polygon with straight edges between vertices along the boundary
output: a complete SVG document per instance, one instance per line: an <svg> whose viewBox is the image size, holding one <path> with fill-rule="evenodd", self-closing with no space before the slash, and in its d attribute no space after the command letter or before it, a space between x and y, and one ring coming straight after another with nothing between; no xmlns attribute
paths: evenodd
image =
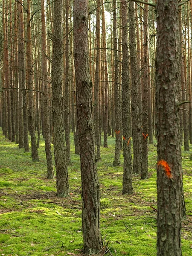
<svg viewBox="0 0 192 256"><path fill-rule="evenodd" d="M44 135L45 152L47 159L47 178L54 178L51 152L50 124L49 124L49 76L47 63L47 20L46 20L46 1L41 0L41 21L42 21L42 76L44 88Z"/></svg>

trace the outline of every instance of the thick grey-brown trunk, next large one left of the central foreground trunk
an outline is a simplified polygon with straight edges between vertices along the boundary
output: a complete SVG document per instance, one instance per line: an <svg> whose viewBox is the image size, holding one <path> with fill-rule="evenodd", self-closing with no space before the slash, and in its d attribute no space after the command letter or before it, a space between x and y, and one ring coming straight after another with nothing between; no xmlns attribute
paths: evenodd
<svg viewBox="0 0 192 256"><path fill-rule="evenodd" d="M55 0L54 4L54 36L52 65L52 109L53 136L56 167L56 187L58 197L69 196L67 159L64 146L63 104L62 104L62 38L63 0Z"/></svg>

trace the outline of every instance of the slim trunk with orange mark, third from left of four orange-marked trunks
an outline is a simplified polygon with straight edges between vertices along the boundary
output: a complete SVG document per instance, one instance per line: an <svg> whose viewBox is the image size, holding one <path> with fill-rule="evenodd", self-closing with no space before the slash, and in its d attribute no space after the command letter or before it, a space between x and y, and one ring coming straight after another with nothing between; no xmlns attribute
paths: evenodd
<svg viewBox="0 0 192 256"><path fill-rule="evenodd" d="M148 0L146 0L148 3ZM143 15L143 156L141 178L148 177L148 5L145 4Z"/></svg>

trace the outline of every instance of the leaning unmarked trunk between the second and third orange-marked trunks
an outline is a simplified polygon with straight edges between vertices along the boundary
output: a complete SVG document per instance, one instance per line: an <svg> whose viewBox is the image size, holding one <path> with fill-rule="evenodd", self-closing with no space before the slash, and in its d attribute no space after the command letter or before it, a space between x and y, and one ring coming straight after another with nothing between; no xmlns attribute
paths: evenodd
<svg viewBox="0 0 192 256"><path fill-rule="evenodd" d="M142 143L141 126L139 118L139 83L137 72L135 13L133 1L129 2L129 47L131 64L131 116L134 151L133 172L141 174Z"/></svg>

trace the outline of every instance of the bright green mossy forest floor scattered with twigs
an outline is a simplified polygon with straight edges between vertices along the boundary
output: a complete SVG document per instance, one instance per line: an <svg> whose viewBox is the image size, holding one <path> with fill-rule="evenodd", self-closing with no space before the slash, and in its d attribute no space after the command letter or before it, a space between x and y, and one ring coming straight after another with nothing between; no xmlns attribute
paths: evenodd
<svg viewBox="0 0 192 256"><path fill-rule="evenodd" d="M46 156L41 138L39 162L31 153L4 138L0 131L0 255L80 255L81 173L71 136L68 167L70 198L57 198L55 180L46 178ZM30 143L30 142L29 142ZM101 187L101 233L113 256L156 255L157 149L149 145L148 179L133 176L133 195L122 195L121 166L113 167L115 139L108 137L98 163ZM192 145L190 145L192 151ZM182 226L183 256L192 256L192 160L182 151L187 221Z"/></svg>

